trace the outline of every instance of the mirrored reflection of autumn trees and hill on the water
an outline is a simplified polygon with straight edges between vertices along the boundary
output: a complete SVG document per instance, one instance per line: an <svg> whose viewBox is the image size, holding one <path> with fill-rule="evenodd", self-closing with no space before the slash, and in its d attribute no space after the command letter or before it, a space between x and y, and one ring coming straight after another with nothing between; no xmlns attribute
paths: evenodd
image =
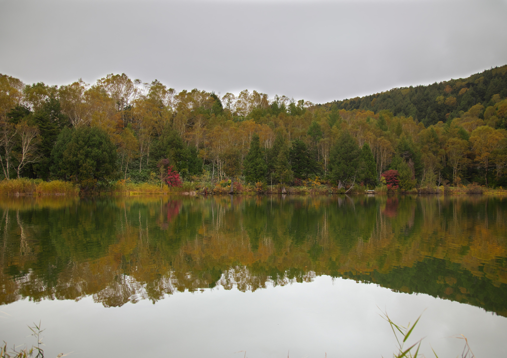
<svg viewBox="0 0 507 358"><path fill-rule="evenodd" d="M319 275L507 316L506 200L460 197L4 198L0 302L104 306Z"/></svg>

